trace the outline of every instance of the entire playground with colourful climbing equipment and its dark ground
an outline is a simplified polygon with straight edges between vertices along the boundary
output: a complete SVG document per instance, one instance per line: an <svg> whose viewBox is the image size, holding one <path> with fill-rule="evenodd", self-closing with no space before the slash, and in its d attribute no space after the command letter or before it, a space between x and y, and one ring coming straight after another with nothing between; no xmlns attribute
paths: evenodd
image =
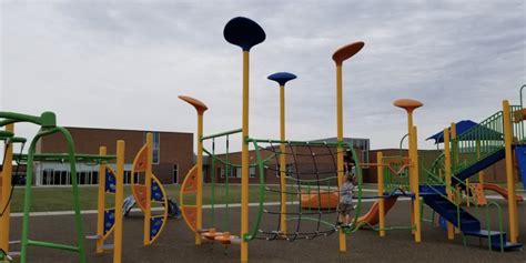
<svg viewBox="0 0 526 263"><path fill-rule="evenodd" d="M153 173L152 133L134 152L131 182L124 188L124 140L115 142L112 154L108 148L113 145L100 145L98 154L78 153L74 138L58 125L60 114L0 112L0 127L6 128L0 132L4 142L0 261L524 261L526 85L520 87L519 104L503 99L478 123L445 123L445 129L432 136L441 153L431 163L419 155L419 133L413 120L424 103L414 99L383 102L392 103L398 117L407 119L407 134L399 145L406 140L408 149L405 154L401 149L398 155L377 152L376 162L363 162L356 149L343 140L343 65L354 62L352 58L366 48L364 42L344 44L332 55L336 72L335 141L293 141L285 136L284 90L296 75L276 72L267 77L280 89L280 138L254 136L249 132L250 53L266 34L255 21L236 17L226 22L223 37L241 51L241 129L205 133L205 112L214 109L195 98L179 95L178 102L191 107L180 114L195 115L198 125L195 163L178 189L168 189ZM20 138L17 123L32 123L40 130L34 138ZM38 141L51 134L64 138L65 153L38 152ZM233 141L241 149L233 149ZM26 142L27 153L13 153L13 144ZM211 166L206 185L205 156ZM23 196L17 193L18 200L11 203L13 161L27 165L27 175ZM505 162L505 182L485 183L484 169L499 161ZM38 162L69 164L71 195L60 199L70 198L73 211L32 213L33 204L44 200L39 200L39 190L32 186ZM97 194L88 204L77 182L78 163L99 169L97 191L84 192ZM376 170L376 184L364 184L365 166ZM239 171L241 183L230 182L233 171ZM266 183L269 174L279 176L280 183ZM124 200L129 193L132 198ZM343 196L351 201L343 201ZM169 218L174 200L181 219ZM130 202L135 210L123 216L132 206ZM11 216L14 204L21 204L22 210ZM92 211L82 213L87 208ZM12 253L17 246L20 252Z"/></svg>

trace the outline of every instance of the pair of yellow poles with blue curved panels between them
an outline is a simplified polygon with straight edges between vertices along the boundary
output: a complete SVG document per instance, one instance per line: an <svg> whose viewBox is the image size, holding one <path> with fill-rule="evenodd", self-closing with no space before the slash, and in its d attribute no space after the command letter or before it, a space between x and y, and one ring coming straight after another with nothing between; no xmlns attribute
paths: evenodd
<svg viewBox="0 0 526 263"><path fill-rule="evenodd" d="M99 155L107 155L101 146ZM113 262L122 261L122 200L124 196L124 141L117 142L117 173L107 163L99 165L99 201L97 213L97 235L87 236L97 240L97 253L113 250ZM107 194L113 195L113 208L107 208ZM113 244L105 241L113 233Z"/></svg>

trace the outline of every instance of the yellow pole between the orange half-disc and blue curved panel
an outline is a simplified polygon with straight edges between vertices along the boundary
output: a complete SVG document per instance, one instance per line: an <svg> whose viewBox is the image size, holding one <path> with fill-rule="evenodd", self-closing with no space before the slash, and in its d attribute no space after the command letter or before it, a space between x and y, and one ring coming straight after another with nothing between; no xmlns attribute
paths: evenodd
<svg viewBox="0 0 526 263"><path fill-rule="evenodd" d="M146 196L144 202L144 245L150 245L150 219L152 218L152 161L153 161L153 134L146 133L146 171L144 173L144 186Z"/></svg>

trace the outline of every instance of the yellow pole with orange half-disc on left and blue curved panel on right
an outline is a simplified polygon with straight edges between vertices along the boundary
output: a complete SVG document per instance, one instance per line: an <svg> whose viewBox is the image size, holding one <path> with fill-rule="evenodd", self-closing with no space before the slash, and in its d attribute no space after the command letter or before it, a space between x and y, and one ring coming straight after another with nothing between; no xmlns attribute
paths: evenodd
<svg viewBox="0 0 526 263"><path fill-rule="evenodd" d="M168 198L163 185L152 172L153 134L146 133L146 143L139 150L132 164L131 185L133 198L144 213L144 245L151 245L161 235L166 224ZM121 199L122 200L122 199ZM152 203L162 208L152 214ZM120 205L122 209L122 204ZM122 215L122 210L120 211Z"/></svg>

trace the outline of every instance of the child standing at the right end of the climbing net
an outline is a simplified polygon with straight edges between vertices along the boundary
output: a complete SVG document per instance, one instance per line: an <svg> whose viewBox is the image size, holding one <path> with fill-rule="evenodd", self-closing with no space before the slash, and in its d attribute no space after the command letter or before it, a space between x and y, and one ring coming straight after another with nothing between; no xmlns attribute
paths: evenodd
<svg viewBox="0 0 526 263"><path fill-rule="evenodd" d="M345 182L340 188L340 204L338 204L338 225L343 224L344 227L348 227L351 223L351 211L354 210L353 195L354 195L354 163L351 158L345 156Z"/></svg>

